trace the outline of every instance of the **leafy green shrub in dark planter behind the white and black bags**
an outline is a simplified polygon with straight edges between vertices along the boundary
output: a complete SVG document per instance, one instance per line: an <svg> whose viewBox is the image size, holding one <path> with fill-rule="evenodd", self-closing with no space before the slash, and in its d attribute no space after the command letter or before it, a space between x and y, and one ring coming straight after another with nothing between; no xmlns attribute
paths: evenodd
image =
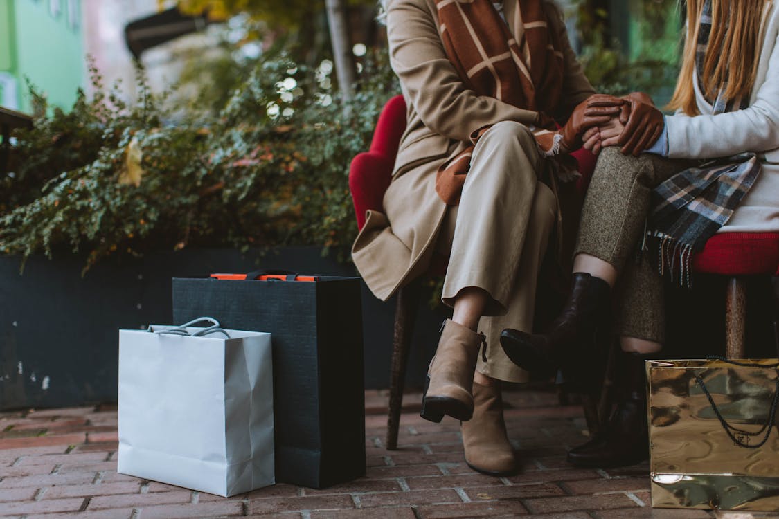
<svg viewBox="0 0 779 519"><path fill-rule="evenodd" d="M2 179L0 251L108 254L190 246L350 244L347 175L397 93L386 54L368 58L346 106L311 70L268 54L216 116L174 121L139 73L139 103L79 93L72 110L35 94L34 127L16 132Z"/></svg>

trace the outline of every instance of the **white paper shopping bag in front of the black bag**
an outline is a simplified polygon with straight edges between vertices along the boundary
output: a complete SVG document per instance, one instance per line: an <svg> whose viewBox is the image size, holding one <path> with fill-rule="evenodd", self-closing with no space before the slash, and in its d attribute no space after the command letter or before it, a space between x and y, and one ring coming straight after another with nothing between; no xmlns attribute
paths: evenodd
<svg viewBox="0 0 779 519"><path fill-rule="evenodd" d="M118 472L232 496L274 482L270 334L119 332Z"/></svg>

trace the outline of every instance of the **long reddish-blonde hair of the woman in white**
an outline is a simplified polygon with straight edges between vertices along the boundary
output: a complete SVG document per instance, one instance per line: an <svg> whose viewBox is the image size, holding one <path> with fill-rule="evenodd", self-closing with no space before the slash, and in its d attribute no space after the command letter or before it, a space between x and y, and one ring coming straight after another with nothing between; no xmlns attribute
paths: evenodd
<svg viewBox="0 0 779 519"><path fill-rule="evenodd" d="M668 108L682 109L688 115L699 114L693 89L696 75L696 51L700 16L704 0L687 0L687 30L682 54L682 69ZM735 100L749 96L755 82L760 57L760 21L766 0L712 0L711 33L700 89L709 99L717 97L727 84L724 96Z"/></svg>

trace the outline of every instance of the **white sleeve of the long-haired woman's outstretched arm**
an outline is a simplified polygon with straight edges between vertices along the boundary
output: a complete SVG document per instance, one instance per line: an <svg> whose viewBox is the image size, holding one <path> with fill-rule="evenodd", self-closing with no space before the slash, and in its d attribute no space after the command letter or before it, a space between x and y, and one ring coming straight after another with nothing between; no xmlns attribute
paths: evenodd
<svg viewBox="0 0 779 519"><path fill-rule="evenodd" d="M766 81L755 102L744 110L717 115L670 115L668 156L708 159L779 147L779 47L770 51Z"/></svg>

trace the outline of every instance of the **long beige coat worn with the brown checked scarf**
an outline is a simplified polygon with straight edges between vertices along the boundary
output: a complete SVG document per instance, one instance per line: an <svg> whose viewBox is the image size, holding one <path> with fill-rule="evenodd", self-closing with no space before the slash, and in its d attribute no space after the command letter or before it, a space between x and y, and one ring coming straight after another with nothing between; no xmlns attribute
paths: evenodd
<svg viewBox="0 0 779 519"><path fill-rule="evenodd" d="M521 26L513 23L520 16L518 3L505 2L509 26ZM545 7L551 29L561 34L562 103L553 115L565 121L573 107L594 90L576 61L559 9L551 1ZM472 132L500 121L531 126L537 116L466 89L446 58L434 0L390 0L386 21L390 62L408 107L407 128L384 197L384 211L368 212L352 247L354 264L380 300L428 268L447 212L435 192L439 166L470 144ZM521 34L514 36L521 42Z"/></svg>

